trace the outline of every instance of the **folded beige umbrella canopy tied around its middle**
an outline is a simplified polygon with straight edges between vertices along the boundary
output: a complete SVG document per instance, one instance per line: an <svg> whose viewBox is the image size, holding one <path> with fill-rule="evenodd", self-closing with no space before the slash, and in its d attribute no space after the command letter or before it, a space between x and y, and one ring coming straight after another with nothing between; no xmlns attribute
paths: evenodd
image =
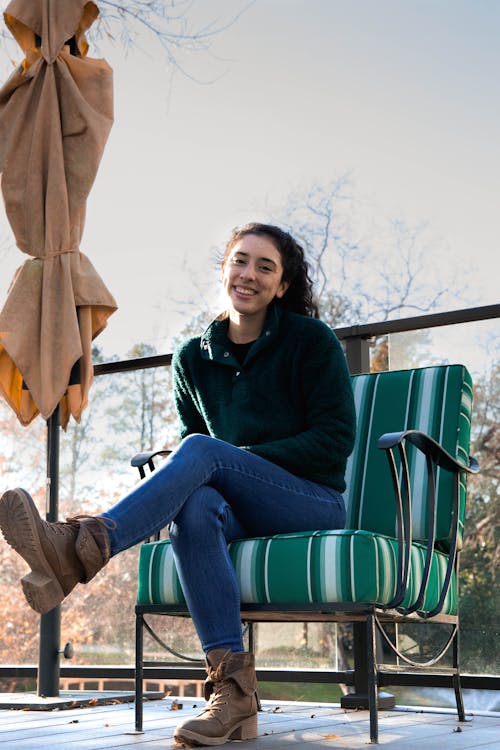
<svg viewBox="0 0 500 750"><path fill-rule="evenodd" d="M91 342L116 310L80 252L85 207L113 121L112 71L88 58L98 16L84 0L12 0L5 22L25 59L0 89L0 172L20 250L0 312L0 392L22 424L78 421L92 382Z"/></svg>

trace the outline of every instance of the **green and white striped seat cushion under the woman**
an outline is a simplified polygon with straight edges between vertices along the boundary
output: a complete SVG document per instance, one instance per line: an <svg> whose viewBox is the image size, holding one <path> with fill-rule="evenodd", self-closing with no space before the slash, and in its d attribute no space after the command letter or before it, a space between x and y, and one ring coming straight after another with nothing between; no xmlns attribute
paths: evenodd
<svg viewBox="0 0 500 750"><path fill-rule="evenodd" d="M397 541L368 531L316 531L232 542L229 554L244 604L367 602L388 604L396 592ZM413 544L408 593L420 590L425 547ZM424 606L432 609L444 580L448 557L435 552ZM138 604L182 604L184 596L169 540L143 544L139 558ZM442 610L456 613L453 577Z"/></svg>

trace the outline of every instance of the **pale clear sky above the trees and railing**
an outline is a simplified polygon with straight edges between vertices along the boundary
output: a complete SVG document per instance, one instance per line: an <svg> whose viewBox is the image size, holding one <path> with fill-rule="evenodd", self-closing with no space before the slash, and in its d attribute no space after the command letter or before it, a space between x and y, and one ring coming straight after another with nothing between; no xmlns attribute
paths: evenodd
<svg viewBox="0 0 500 750"><path fill-rule="evenodd" d="M192 23L243 5L194 2ZM146 37L127 57L105 47L115 124L81 250L119 304L106 353L169 351L182 315L217 312L212 251L229 230L346 171L366 205L429 223L467 304L498 302L499 38L498 0L255 0L210 52L181 53L206 83L172 78ZM22 260L0 256L0 304Z"/></svg>

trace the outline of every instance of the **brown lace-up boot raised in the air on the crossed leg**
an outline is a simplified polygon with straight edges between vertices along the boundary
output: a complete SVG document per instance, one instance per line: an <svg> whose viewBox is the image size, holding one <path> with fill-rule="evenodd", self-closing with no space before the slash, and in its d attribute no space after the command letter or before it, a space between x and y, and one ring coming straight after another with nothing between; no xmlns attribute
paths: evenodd
<svg viewBox="0 0 500 750"><path fill-rule="evenodd" d="M0 500L0 528L6 542L28 563L22 578L30 607L44 614L54 609L77 583L87 583L110 557L106 518L77 516L66 523L40 518L26 490L8 490Z"/></svg>

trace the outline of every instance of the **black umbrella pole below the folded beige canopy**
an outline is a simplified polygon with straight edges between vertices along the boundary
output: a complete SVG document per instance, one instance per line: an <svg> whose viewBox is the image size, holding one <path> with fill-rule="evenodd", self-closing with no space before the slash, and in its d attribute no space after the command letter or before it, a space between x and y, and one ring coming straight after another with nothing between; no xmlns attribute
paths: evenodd
<svg viewBox="0 0 500 750"><path fill-rule="evenodd" d="M47 521L59 515L59 406L47 420ZM38 695L59 696L59 650L61 642L61 607L40 617L40 652L38 660Z"/></svg>

